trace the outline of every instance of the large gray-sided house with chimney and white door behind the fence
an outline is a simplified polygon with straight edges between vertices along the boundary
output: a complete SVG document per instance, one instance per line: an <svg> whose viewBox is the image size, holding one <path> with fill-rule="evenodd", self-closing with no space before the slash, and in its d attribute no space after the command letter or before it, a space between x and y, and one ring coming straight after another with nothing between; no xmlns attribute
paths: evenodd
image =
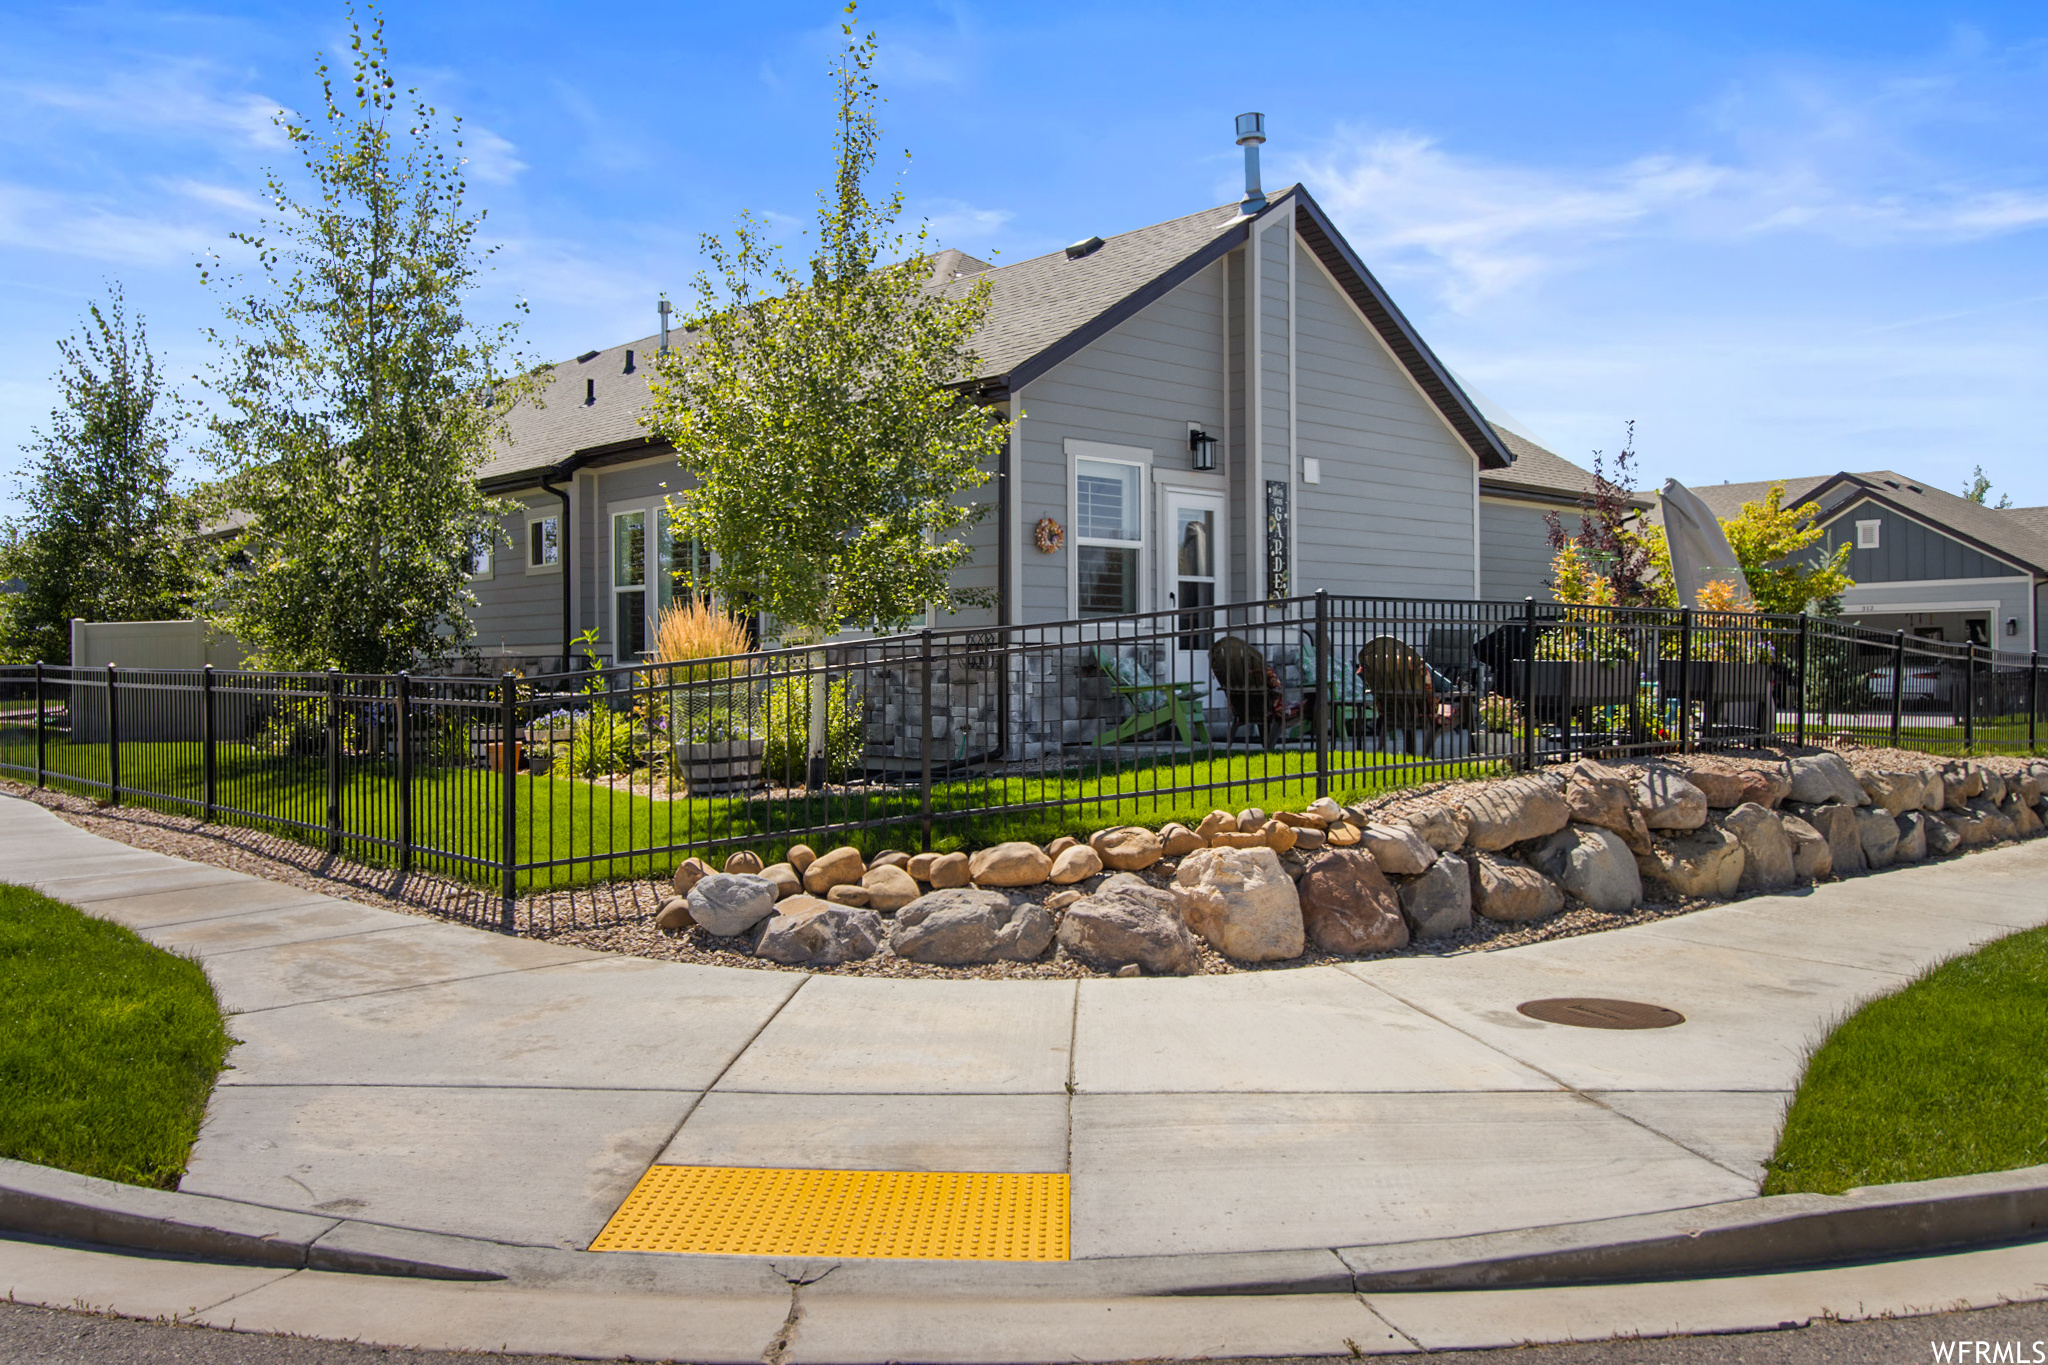
<svg viewBox="0 0 2048 1365"><path fill-rule="evenodd" d="M969 391L1012 422L958 579L999 606L934 624L1540 589L1548 546L1524 512L1575 508L1585 471L1495 430L1300 186L1010 266L942 252L934 268L942 289L987 280ZM557 364L481 475L520 503L475 581L477 645L506 665L549 667L586 628L606 657L637 657L709 567L668 536L686 477L639 424L662 344ZM1518 454L1534 471L1520 481ZM1042 518L1065 536L1053 553L1034 544Z"/></svg>

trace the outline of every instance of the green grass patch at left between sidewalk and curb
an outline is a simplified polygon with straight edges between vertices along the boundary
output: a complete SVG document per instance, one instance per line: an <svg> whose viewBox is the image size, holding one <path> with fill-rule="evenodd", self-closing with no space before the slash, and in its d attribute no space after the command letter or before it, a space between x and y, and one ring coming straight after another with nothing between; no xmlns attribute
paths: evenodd
<svg viewBox="0 0 2048 1365"><path fill-rule="evenodd" d="M197 962L0 884L0 1156L176 1189L231 1040Z"/></svg>

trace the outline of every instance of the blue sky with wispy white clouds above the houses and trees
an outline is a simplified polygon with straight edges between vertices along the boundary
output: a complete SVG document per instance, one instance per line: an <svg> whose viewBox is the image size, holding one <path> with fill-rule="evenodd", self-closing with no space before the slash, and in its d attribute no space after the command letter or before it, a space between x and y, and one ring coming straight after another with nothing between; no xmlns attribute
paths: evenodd
<svg viewBox="0 0 2048 1365"><path fill-rule="evenodd" d="M885 145L946 246L1024 260L1233 201L1231 117L1423 336L1544 444L1636 422L1645 483L1982 465L2048 503L2048 8L2038 4L885 4ZM6 0L0 450L119 278L178 375L193 262L258 219L268 115L340 4ZM393 8L467 119L481 299L561 358L655 327L698 235L795 233L829 172L827 4ZM0 489L12 501L12 489ZM4 505L0 501L0 505Z"/></svg>

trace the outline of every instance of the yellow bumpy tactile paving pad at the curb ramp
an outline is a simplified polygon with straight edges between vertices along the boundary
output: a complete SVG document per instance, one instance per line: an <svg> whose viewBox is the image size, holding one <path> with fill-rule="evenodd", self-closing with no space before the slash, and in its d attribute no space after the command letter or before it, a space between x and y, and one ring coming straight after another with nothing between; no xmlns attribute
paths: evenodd
<svg viewBox="0 0 2048 1365"><path fill-rule="evenodd" d="M1065 1261L1067 1177L651 1166L590 1250Z"/></svg>

